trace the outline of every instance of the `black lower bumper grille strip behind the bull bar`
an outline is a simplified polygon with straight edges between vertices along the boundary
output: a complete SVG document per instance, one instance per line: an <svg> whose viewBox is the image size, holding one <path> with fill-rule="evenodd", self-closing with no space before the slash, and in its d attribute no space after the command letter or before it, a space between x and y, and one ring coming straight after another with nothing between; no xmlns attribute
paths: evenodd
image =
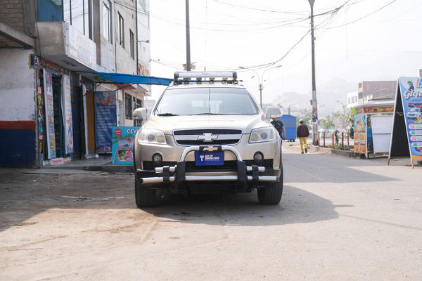
<svg viewBox="0 0 422 281"><path fill-rule="evenodd" d="M237 161L231 160L231 161L224 161L224 165L210 165L210 166L196 166L195 161L186 161L186 172L188 171L236 171L237 170ZM246 166L264 166L265 169L272 169L273 167L273 159L264 159L264 162L261 164L256 164L253 160L246 160L245 161ZM158 166L174 166L177 162L162 162L162 164ZM152 161L143 161L142 162L143 169L144 170L154 170L155 164Z"/></svg>

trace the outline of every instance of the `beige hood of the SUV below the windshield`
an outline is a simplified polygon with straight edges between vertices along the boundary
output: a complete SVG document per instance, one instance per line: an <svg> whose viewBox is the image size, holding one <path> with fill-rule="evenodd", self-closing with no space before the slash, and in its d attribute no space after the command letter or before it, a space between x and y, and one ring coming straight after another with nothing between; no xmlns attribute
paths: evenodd
<svg viewBox="0 0 422 281"><path fill-rule="evenodd" d="M179 129L241 129L250 133L252 129L272 126L264 115L191 115L156 116L151 115L143 128L160 129L166 135Z"/></svg>

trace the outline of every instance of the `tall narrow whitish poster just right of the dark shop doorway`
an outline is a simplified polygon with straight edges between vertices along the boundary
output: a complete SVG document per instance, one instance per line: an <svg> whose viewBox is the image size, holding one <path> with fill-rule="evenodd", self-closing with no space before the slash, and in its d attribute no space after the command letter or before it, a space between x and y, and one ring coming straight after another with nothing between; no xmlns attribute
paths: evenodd
<svg viewBox="0 0 422 281"><path fill-rule="evenodd" d="M73 132L72 132L72 100L70 98L70 78L68 75L62 76L62 116L63 129L65 129L65 152L73 152Z"/></svg>

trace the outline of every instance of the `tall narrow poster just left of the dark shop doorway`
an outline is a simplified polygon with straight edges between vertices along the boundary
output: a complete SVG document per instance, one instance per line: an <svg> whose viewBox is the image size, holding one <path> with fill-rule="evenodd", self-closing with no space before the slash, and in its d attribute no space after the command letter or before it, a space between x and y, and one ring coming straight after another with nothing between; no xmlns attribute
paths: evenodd
<svg viewBox="0 0 422 281"><path fill-rule="evenodd" d="M56 158L56 136L54 133L53 79L51 71L44 69L44 102L46 116L47 158Z"/></svg>

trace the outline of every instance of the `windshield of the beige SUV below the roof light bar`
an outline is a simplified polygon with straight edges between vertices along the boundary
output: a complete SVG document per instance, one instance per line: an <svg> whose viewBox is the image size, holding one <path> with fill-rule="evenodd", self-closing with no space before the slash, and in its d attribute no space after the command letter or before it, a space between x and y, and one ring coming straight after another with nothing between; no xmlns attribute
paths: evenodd
<svg viewBox="0 0 422 281"><path fill-rule="evenodd" d="M256 115L257 106L246 89L167 89L155 115Z"/></svg>

